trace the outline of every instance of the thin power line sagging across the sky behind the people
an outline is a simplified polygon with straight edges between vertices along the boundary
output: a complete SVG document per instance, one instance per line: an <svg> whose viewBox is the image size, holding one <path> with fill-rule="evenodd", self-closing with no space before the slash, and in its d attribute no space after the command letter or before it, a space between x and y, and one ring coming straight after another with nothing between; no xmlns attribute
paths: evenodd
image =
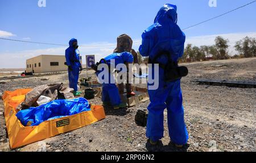
<svg viewBox="0 0 256 163"><path fill-rule="evenodd" d="M192 28L192 27L198 26L198 25L200 25L200 24L209 22L210 20L213 20L213 19L219 18L219 17L221 17L221 16L224 16L224 15L226 15L226 14L229 14L230 12L233 12L233 11L236 11L236 10L238 10L238 9L241 9L241 8L243 8L243 7L245 7L245 6L251 5L251 3L254 3L254 2L256 2L256 1L247 3L246 5L237 7L236 9L230 10L230 11L228 11L228 12L225 12L224 14L215 16L215 17L210 18L210 19L208 19L208 20L204 20L203 22L194 24L194 25L189 26L189 27L187 27L187 28L183 28L183 31L187 30L188 28ZM46 44L46 45L67 46L67 45L64 45L64 44L53 44L53 43L42 43L42 42L35 42L35 41L24 41L24 40L6 39L6 38L2 38L2 37L0 37L0 39L2 39L2 40L10 40L10 41L19 41L19 42L24 42L24 43L34 43L34 44ZM141 41L136 41L136 42L134 42L134 43L140 43L140 42L141 42ZM116 45L116 44L109 44L109 45L80 45L80 47L113 47L113 46L115 46L115 45Z"/></svg>

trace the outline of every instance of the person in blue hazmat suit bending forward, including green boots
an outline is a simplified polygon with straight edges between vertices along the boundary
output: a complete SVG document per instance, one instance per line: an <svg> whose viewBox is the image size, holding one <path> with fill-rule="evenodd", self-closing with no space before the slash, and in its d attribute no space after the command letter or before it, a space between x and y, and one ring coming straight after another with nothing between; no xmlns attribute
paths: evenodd
<svg viewBox="0 0 256 163"><path fill-rule="evenodd" d="M114 61L114 63L113 63ZM106 56L105 58L102 58L97 65L93 65L92 68L96 70L96 75L98 75L103 71L103 70L98 70L97 66L100 64L106 64L108 65L109 69L109 81L108 82L103 82L102 83L102 97L101 100L103 102L103 105L111 105L114 107L114 109L126 107L126 103L121 102L120 96L119 96L119 91L117 86L115 85L115 80L113 76L112 70L110 70L110 65L117 66L118 64L125 64L126 66L128 64L133 63L133 55L129 52L122 52L122 53L113 53L112 55ZM104 77L102 77L104 80ZM99 78L100 80L100 78ZM111 81L114 81L112 83Z"/></svg>

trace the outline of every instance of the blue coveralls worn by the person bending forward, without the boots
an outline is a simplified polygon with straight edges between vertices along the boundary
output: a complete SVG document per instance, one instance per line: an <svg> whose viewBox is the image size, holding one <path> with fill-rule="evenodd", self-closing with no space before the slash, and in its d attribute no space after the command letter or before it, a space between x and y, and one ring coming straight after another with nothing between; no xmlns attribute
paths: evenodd
<svg viewBox="0 0 256 163"><path fill-rule="evenodd" d="M106 56L104 59L106 60L106 63L108 64L108 66L113 64L111 60L114 60L115 61L114 68L115 68L115 66L117 66L118 64L124 64L125 62L132 63L133 55L131 55L131 53L129 52L113 53L112 55ZM104 63L104 62L102 61L101 63ZM101 72L102 70L98 71L96 75L98 76L98 74ZM119 91L115 83L110 83L110 80L115 81L114 76L111 73L109 73L109 82L102 83L101 100L102 102L110 102L112 106L118 106L121 103L121 99L119 97Z"/></svg>

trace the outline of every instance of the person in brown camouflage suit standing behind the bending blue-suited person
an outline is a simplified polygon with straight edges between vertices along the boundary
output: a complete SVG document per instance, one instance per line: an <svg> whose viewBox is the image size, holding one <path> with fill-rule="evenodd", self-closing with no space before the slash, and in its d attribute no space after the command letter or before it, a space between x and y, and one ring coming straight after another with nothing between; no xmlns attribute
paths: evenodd
<svg viewBox="0 0 256 163"><path fill-rule="evenodd" d="M126 34L122 34L117 37L117 47L114 49L114 53L130 52L134 57L134 63L138 63L137 53L131 47L133 47L133 40L131 37ZM129 70L129 66L127 66L127 70ZM125 84L127 98L135 96L135 93L131 89L131 83L129 83L128 79L129 73L127 72L127 81ZM118 84L119 94L123 94L125 87L123 83Z"/></svg>

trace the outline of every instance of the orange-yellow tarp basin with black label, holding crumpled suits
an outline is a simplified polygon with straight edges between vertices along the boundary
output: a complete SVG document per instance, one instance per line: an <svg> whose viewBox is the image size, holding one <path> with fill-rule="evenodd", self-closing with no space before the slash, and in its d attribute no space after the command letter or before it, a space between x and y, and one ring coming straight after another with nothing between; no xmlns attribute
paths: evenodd
<svg viewBox="0 0 256 163"><path fill-rule="evenodd" d="M25 99L31 89L18 89L5 91L3 103L5 106L5 122L9 136L11 149L21 147L35 141L72 131L105 118L104 108L100 105L92 105L91 111L81 112L63 118L47 120L38 126L24 127L16 117L16 107Z"/></svg>

